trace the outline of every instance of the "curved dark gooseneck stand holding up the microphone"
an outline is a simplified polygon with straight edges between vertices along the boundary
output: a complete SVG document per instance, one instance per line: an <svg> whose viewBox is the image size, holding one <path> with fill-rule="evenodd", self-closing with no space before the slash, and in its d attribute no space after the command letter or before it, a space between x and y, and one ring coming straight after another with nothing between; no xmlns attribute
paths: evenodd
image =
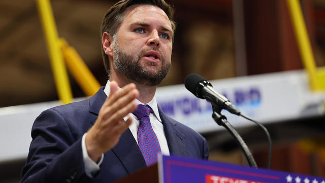
<svg viewBox="0 0 325 183"><path fill-rule="evenodd" d="M215 120L215 122L218 125L220 125L220 126L224 127L225 129L227 129L232 134L232 136L235 138L236 142L242 148L243 153L244 153L244 155L246 157L246 160L248 161L249 166L257 168L256 162L255 162L252 154L250 153L250 150L249 150L248 146L246 145L246 143L242 139L242 137L234 129L234 127L228 122L227 118L220 113L221 109L219 109L219 107L216 107L216 106L212 105L212 108L213 108L212 117Z"/></svg>

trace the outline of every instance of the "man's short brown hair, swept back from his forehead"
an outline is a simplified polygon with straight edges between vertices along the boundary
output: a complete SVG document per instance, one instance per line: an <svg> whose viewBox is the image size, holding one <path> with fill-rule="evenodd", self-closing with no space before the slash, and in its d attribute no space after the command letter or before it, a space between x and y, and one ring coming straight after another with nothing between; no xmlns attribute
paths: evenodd
<svg viewBox="0 0 325 183"><path fill-rule="evenodd" d="M163 10L172 24L173 32L176 28L176 23L174 22L174 7L167 4L164 0L122 0L113 5L105 14L102 26L101 34L105 32L109 33L112 37L117 33L122 21L124 20L125 10L132 5L153 5L161 10ZM109 59L105 54L102 47L102 57L106 72L110 73Z"/></svg>

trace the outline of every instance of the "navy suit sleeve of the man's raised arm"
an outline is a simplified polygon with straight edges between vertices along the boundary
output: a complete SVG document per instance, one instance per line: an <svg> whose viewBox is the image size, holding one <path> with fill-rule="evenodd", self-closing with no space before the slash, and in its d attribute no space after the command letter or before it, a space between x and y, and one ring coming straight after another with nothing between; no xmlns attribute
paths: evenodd
<svg viewBox="0 0 325 183"><path fill-rule="evenodd" d="M81 138L74 139L64 118L54 109L42 112L31 129L32 141L21 182L88 182Z"/></svg>

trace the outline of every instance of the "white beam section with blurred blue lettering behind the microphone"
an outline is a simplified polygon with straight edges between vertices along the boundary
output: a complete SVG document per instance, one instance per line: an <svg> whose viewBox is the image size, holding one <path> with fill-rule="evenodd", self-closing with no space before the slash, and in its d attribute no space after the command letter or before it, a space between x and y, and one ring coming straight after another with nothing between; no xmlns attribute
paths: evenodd
<svg viewBox="0 0 325 183"><path fill-rule="evenodd" d="M210 81L243 114L261 123L317 116L324 113L324 93L311 92L303 71L289 71ZM184 85L158 87L157 103L164 112L198 132L219 127L212 118L211 104L192 95ZM235 127L252 125L222 110Z"/></svg>

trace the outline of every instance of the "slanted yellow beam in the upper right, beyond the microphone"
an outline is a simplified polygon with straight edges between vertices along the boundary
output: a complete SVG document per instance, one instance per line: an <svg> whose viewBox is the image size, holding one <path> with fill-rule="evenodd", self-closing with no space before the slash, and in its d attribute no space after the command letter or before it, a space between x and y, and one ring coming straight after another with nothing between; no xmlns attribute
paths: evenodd
<svg viewBox="0 0 325 183"><path fill-rule="evenodd" d="M287 0L291 21L293 22L294 31L303 60L303 65L307 69L312 90L320 90L317 79L315 60L310 46L305 21L302 15L301 7L298 0Z"/></svg>

